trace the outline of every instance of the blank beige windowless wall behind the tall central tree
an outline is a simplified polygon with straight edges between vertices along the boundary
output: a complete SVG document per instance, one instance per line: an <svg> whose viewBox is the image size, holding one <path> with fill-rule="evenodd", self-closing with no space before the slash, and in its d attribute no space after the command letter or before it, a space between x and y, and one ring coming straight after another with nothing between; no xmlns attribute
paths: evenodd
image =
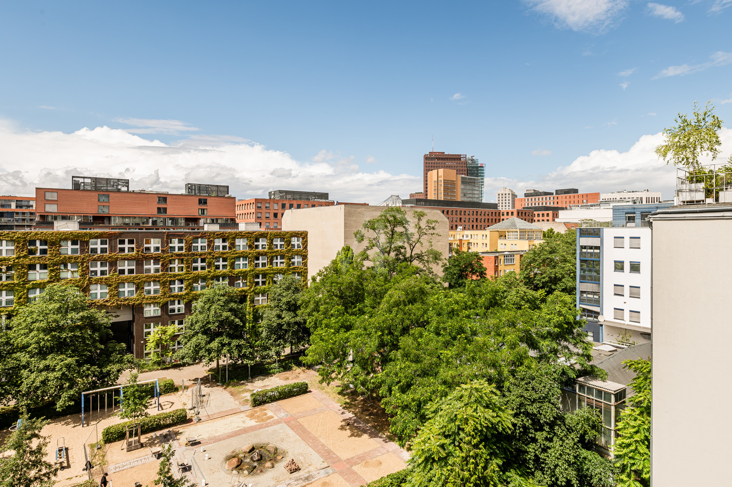
<svg viewBox="0 0 732 487"><path fill-rule="evenodd" d="M427 214L424 220L438 220L433 236L432 246L438 250L444 259L447 259L447 237L449 222L438 209L419 209L402 207L409 220L414 221L414 212L423 211ZM287 210L283 213L282 226L285 231L307 230L307 272L308 280L320 269L335 259L335 254L350 245L355 253L365 248L366 242L357 243L354 232L359 230L365 220L375 218L386 207L371 207L363 205L336 205L335 207L316 207L298 210ZM424 224L424 220L423 224ZM438 275L442 274L441 265L433 268Z"/></svg>

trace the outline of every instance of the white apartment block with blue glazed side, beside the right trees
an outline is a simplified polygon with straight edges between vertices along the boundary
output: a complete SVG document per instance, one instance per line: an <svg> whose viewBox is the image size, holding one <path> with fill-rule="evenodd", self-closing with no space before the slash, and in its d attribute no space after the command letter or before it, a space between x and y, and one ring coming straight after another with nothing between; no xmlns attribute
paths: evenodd
<svg viewBox="0 0 732 487"><path fill-rule="evenodd" d="M577 305L593 341L651 340L651 229L579 228Z"/></svg>

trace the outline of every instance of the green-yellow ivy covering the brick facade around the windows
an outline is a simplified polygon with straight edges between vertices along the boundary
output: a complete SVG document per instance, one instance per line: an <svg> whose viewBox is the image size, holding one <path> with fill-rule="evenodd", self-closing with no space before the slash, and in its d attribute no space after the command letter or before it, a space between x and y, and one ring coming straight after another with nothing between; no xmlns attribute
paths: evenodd
<svg viewBox="0 0 732 487"><path fill-rule="evenodd" d="M168 300L184 300L190 302L195 300L198 291L193 291L193 281L205 279L211 285L214 278L233 276L236 279L246 280L246 286L236 288L243 296L247 297L247 303L250 308L254 308L254 294L264 294L269 292L269 288L274 283L274 276L277 274L292 274L294 272L302 273L303 283L307 283L307 232L306 231L141 231L139 236L142 238L160 238L160 250L157 253L143 253L143 249L139 245L135 246L134 253L102 253L89 254L88 245L91 239L108 239L109 250L112 243L116 243L118 238L130 238L132 235L137 236L137 232L132 231L0 231L0 240L15 241L15 256L0 256L0 270L7 269L8 266L13 268L13 279L0 282L0 291L12 290L14 294L14 305L12 307L0 308L0 314L13 313L15 307L25 305L28 302L28 291L34 288L43 288L50 283L62 283L68 286L76 286L83 292L89 293L91 284L106 284L108 289L108 297L105 299L94 300L95 305L106 306L111 308L121 308L122 306L141 306L145 303L164 303ZM300 237L302 239L302 249L291 248L291 238ZM191 251L191 245L195 238L206 238L205 251ZM214 239L224 239L228 242L228 248L236 248L236 239L247 239L247 250L211 250L213 248ZM255 239L266 238L266 250L254 248ZM284 239L285 248L274 249L274 239ZM184 252L168 253L168 244L171 239L184 239ZM45 240L48 242L48 255L37 256L29 253L28 242L30 240ZM79 254L67 255L61 254L61 240L79 240ZM139 242L138 242L139 243ZM83 244L83 246L82 246ZM267 256L267 267L253 268L255 256ZM285 256L284 267L272 267L272 259L274 256ZM292 266L291 259L293 256L302 256L302 265ZM234 269L234 259L236 257L247 257L247 269ZM191 265L193 259L206 259L205 271L193 271ZM184 261L184 272L168 272L168 265L173 259L182 259ZM226 259L226 270L214 270L214 259ZM108 261L116 262L122 260L158 260L160 261L161 272L154 274L133 274L118 275L116 272L110 272L111 264L108 267L109 275L103 277L89 276L90 261ZM78 264L78 278L61 279L61 264L75 263ZM48 266L48 279L29 280L28 266L31 264L46 264ZM266 276L266 284L264 286L255 286L254 276L262 274ZM179 293L171 293L170 282L172 280L183 280L184 291ZM160 283L160 294L146 295L144 294L144 283L149 281L157 281ZM135 283L134 297L118 297L117 289L119 283Z"/></svg>

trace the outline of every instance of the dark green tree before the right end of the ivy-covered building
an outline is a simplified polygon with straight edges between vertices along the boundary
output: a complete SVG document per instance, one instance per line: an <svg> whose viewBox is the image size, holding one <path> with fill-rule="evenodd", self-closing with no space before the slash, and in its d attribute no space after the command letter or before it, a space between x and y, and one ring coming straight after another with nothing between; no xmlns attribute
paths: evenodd
<svg viewBox="0 0 732 487"><path fill-rule="evenodd" d="M299 316L301 294L302 280L293 275L285 275L269 290L259 330L266 348L277 356L287 346L294 352L307 345L310 329Z"/></svg>

